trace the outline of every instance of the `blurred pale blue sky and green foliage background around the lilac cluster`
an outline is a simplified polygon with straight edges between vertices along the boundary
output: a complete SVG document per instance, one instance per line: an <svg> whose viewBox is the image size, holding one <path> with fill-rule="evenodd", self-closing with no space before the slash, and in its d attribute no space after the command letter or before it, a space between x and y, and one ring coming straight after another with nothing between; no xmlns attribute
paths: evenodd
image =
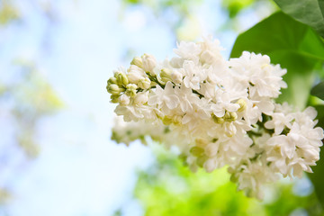
<svg viewBox="0 0 324 216"><path fill-rule="evenodd" d="M0 216L323 215L305 175L247 198L225 169L190 173L155 143L110 139L106 80L179 40L239 32L270 0L0 0Z"/></svg>

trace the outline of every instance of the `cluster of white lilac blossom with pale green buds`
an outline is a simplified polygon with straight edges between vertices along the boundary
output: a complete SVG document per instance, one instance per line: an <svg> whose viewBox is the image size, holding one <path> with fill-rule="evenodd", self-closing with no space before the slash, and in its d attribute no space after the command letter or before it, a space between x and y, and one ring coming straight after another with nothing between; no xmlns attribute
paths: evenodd
<svg viewBox="0 0 324 216"><path fill-rule="evenodd" d="M107 82L120 116L112 139L129 145L149 136L175 146L193 171L229 166L238 190L262 199L263 185L278 176L312 172L323 130L314 108L275 103L285 69L246 51L226 60L221 49L211 38L182 41L174 58L144 54L115 71Z"/></svg>

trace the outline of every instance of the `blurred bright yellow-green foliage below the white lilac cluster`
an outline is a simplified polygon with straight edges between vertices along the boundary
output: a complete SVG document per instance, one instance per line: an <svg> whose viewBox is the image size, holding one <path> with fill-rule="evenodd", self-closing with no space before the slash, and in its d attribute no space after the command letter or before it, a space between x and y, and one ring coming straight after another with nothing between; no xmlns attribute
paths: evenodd
<svg viewBox="0 0 324 216"><path fill-rule="evenodd" d="M157 145L153 148L157 161L148 170L139 171L134 190L144 215L284 216L293 211L305 211L308 215L324 212L314 193L293 192L295 182L269 186L268 197L260 202L237 191L236 184L229 181L226 167L211 174L203 170L192 173L169 151ZM122 215L122 208L116 215Z"/></svg>

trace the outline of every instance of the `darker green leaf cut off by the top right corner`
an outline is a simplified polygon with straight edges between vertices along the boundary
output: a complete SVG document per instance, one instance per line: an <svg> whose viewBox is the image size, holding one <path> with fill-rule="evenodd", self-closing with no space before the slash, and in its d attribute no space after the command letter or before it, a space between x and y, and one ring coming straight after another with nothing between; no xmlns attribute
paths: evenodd
<svg viewBox="0 0 324 216"><path fill-rule="evenodd" d="M310 25L324 37L323 0L275 0L295 20Z"/></svg>

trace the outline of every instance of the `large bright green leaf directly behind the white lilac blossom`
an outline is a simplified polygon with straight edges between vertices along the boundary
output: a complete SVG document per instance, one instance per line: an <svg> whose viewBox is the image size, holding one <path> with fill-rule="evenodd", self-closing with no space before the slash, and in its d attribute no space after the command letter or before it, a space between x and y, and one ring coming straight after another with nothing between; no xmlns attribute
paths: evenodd
<svg viewBox="0 0 324 216"><path fill-rule="evenodd" d="M273 64L287 68L288 88L282 89L278 102L305 107L314 69L324 61L324 43L315 31L279 12L240 34L230 57L238 58L244 50L268 55Z"/></svg>

